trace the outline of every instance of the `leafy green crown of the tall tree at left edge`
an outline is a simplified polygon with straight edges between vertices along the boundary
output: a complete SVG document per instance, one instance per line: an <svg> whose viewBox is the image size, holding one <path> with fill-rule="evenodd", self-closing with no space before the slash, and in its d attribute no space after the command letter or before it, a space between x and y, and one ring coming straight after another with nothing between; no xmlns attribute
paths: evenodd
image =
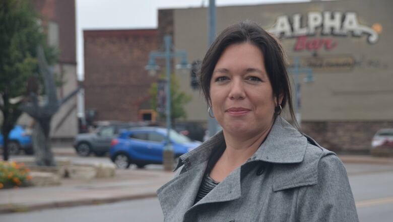
<svg viewBox="0 0 393 222"><path fill-rule="evenodd" d="M9 98L23 95L27 79L38 73L38 45L44 47L48 63L56 60L39 21L30 1L0 2L0 93L7 91Z"/></svg>

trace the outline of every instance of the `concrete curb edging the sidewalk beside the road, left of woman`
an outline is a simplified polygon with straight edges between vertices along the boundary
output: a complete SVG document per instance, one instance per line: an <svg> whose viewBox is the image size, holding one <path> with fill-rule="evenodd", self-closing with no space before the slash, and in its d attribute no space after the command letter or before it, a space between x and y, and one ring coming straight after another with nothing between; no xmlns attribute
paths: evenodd
<svg viewBox="0 0 393 222"><path fill-rule="evenodd" d="M127 200L136 200L136 199L145 199L150 197L156 197L156 192L144 193L144 194L134 194L128 196L119 196L119 197L109 197L109 198L89 198L83 200L71 200L71 201L53 201L51 203L37 203L37 204L7 204L0 206L0 214L2 213L20 213L20 212L28 212L34 210L42 210L42 209L50 209L50 208L58 208L58 207L73 207L73 206L82 206L82 205L98 205L104 203L115 203L120 201Z"/></svg>

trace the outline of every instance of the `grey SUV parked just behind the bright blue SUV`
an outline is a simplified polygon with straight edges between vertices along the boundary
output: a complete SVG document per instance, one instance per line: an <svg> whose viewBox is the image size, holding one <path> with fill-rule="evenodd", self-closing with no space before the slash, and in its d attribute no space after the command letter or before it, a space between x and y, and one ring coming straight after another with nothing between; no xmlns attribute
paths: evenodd
<svg viewBox="0 0 393 222"><path fill-rule="evenodd" d="M117 138L122 129L135 127L143 123L125 123L118 121L100 122L91 133L80 133L75 137L74 147L78 155L87 157L91 153L104 156L110 148L112 139Z"/></svg>

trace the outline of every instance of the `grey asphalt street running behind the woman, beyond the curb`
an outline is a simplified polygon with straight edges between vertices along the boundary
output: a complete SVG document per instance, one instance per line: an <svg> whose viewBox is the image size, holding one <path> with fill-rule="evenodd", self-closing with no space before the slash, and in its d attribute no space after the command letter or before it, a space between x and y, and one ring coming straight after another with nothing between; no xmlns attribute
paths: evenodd
<svg viewBox="0 0 393 222"><path fill-rule="evenodd" d="M153 166L160 167L160 166ZM393 166L347 164L361 222L391 222L393 218ZM157 198L120 203L48 209L0 215L2 222L108 222L162 221Z"/></svg>

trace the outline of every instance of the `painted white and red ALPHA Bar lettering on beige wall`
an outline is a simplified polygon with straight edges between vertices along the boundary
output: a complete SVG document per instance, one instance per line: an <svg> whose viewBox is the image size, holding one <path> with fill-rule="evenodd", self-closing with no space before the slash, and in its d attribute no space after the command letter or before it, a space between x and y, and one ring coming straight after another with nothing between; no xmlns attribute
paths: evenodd
<svg viewBox="0 0 393 222"><path fill-rule="evenodd" d="M302 26L302 24L305 26ZM362 35L366 35L367 41L370 44L375 44L378 41L378 34L382 31L382 26L380 24L374 24L372 28L360 25L358 16L354 12L342 13L325 11L307 13L306 21L303 21L301 14L295 14L291 19L287 15L279 16L276 20L276 24L269 32L276 36L293 38L300 36L315 36L319 28L321 28L320 34L322 36L348 36L352 34L352 36L361 37ZM299 47L307 48L306 43L303 44L302 41L304 41L304 39L301 39ZM326 41L329 42L330 40L322 39L322 42L319 41L318 43L309 44L323 45L326 49L335 47L333 43L328 43Z"/></svg>

